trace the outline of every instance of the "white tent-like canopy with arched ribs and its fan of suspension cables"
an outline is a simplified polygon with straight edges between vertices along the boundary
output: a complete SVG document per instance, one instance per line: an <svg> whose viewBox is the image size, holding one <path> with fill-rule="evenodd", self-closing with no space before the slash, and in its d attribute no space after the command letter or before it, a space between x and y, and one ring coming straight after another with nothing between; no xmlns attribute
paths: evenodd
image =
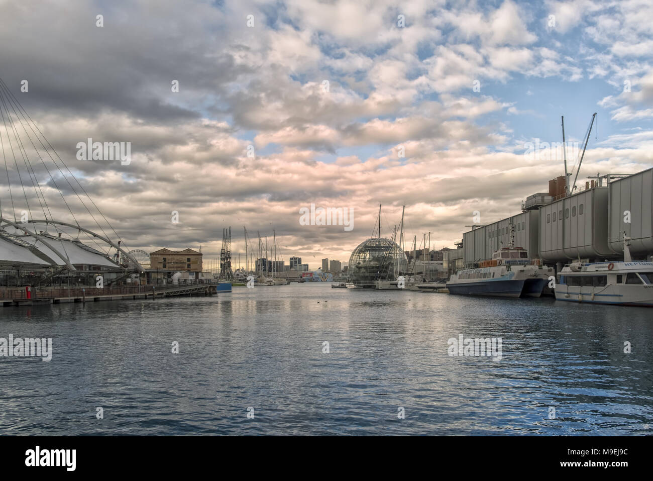
<svg viewBox="0 0 653 481"><path fill-rule="evenodd" d="M2 78L0 156L0 270L143 271Z"/></svg>

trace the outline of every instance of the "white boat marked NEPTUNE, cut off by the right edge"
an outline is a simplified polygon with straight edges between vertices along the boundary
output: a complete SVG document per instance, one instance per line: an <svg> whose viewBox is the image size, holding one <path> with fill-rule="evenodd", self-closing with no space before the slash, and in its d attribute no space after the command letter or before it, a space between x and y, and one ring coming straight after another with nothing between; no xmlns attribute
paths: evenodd
<svg viewBox="0 0 653 481"><path fill-rule="evenodd" d="M558 274L556 301L653 307L653 262L633 261L624 235L624 260L575 262Z"/></svg>

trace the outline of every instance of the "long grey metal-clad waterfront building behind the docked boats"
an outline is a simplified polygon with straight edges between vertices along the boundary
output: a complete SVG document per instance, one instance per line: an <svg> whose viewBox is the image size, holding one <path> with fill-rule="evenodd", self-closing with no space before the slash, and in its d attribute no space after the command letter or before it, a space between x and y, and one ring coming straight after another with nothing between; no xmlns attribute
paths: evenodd
<svg viewBox="0 0 653 481"><path fill-rule="evenodd" d="M631 238L633 259L652 259L653 169L593 178L566 196L564 177L550 180L549 192L527 197L521 214L464 233L464 266L476 267L511 245L526 248L529 257L558 270L579 259L622 259L624 232Z"/></svg>

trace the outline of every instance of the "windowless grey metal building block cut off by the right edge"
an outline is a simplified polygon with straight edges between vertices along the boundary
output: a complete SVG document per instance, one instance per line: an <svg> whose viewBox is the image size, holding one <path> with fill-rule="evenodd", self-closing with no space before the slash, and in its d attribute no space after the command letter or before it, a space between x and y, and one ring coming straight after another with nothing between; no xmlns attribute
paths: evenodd
<svg viewBox="0 0 653 481"><path fill-rule="evenodd" d="M623 233L631 237L631 254L653 254L653 169L610 182L608 245L622 254ZM626 210L630 223L624 222Z"/></svg>

